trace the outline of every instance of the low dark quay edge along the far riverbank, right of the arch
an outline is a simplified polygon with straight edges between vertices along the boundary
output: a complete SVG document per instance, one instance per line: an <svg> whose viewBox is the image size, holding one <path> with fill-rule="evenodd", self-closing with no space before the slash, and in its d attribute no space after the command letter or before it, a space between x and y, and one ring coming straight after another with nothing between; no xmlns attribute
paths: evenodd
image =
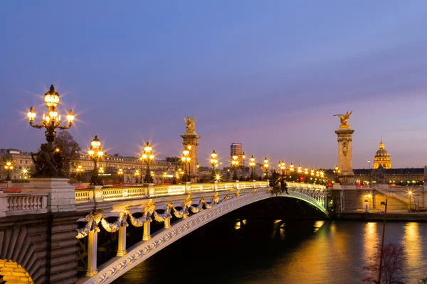
<svg viewBox="0 0 427 284"><path fill-rule="evenodd" d="M382 221L384 220L384 212L342 212L338 219L342 220L373 220ZM427 213L422 212L387 212L387 221L416 221L416 222L427 222Z"/></svg>

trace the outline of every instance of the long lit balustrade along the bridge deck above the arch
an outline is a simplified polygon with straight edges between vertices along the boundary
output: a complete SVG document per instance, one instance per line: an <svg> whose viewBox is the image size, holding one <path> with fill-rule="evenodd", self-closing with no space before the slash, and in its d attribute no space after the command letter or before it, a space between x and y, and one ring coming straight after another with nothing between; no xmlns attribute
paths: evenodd
<svg viewBox="0 0 427 284"><path fill-rule="evenodd" d="M213 182L191 183L181 185L153 185L148 184L139 187L93 187L75 190L75 202L97 202L112 200L129 200L135 198L162 197L167 195L184 195L191 192L217 192L225 190L243 190L248 188L268 187L268 180L245 182ZM308 185L300 182L288 182L288 187L302 190L325 190L324 185Z"/></svg>

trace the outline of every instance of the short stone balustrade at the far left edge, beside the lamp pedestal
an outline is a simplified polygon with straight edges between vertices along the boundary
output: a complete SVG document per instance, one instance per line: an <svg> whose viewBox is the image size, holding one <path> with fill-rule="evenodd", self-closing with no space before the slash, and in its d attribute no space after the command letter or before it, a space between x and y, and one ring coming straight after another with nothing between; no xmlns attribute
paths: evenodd
<svg viewBox="0 0 427 284"><path fill-rule="evenodd" d="M48 193L0 195L0 217L47 213Z"/></svg>

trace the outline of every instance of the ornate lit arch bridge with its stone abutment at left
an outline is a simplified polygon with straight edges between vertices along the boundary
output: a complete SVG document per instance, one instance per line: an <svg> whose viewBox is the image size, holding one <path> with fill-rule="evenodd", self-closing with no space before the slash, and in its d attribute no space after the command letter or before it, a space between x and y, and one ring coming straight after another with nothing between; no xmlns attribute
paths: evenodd
<svg viewBox="0 0 427 284"><path fill-rule="evenodd" d="M32 180L21 193L0 195L0 275L6 283L110 283L191 231L248 204L292 198L327 215L330 195L325 186L299 182L288 182L288 193L273 193L268 180L88 189L74 189L66 179L52 181L51 188L43 182L39 192ZM152 234L152 222L163 228ZM128 226L143 231L129 247ZM116 234L118 246L114 257L98 265L101 230ZM83 278L77 279L78 269L84 269Z"/></svg>

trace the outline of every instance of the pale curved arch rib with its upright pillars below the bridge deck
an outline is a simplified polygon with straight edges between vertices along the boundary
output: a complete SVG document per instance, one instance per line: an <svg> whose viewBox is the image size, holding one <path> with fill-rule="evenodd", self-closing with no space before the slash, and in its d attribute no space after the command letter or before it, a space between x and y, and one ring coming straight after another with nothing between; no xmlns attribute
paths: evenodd
<svg viewBox="0 0 427 284"><path fill-rule="evenodd" d="M251 190L251 189L237 190L236 194L233 197L228 198L228 195L226 195L226 197L223 198L223 200L219 201L218 193L216 193L216 195L214 196L214 199L211 200L211 203L206 203L204 202L204 200L202 202L201 200L197 208L198 210L195 210L195 211L191 210L192 212L197 212L196 214L191 214L191 215L187 214L186 217L181 217L182 218L181 220L174 222L172 226L170 226L170 222L169 220L167 220L168 218L164 218L164 219L160 218L158 221L163 221L163 220L165 221L164 229L157 231L153 236L149 236L149 222L151 221L147 221L145 217L145 219L142 220L142 221L145 221L144 222L145 241L144 240L139 241L139 243L127 249L127 252L125 248L123 249L119 247L119 253L117 253L117 256L115 258L112 258L110 261L107 261L107 263L97 268L96 268L96 256L95 256L95 263L93 260L88 261L87 275L90 277L82 278L78 281L78 283L79 284L110 283L113 280L120 277L120 275L123 275L127 271L130 271L130 269L134 268L139 263L142 263L142 261L154 255L154 253L157 253L158 251L164 249L165 247L169 246L169 244L172 244L174 241L181 239L181 237L186 236L186 234L191 233L191 231L198 229L200 226L204 226L205 224L213 221L218 217L223 216L224 214L228 214L233 210L244 207L253 202L258 202L260 200L265 200L272 197L296 198L298 200L303 200L305 202L312 204L317 209L320 209L320 211L327 214L327 211L325 209L325 205L326 205L325 201L326 201L327 194L328 192L326 192L323 189L320 190L315 188L309 189L307 187L305 188L292 187L292 188L289 188L288 194L281 193L279 195L274 195L272 192L270 192L270 188L258 188L258 191L256 189L255 190ZM189 196L186 198L186 200L189 200ZM185 201L183 205L184 204L186 204ZM203 209L203 207L205 207L206 209ZM146 210L144 209L142 211L145 214L144 211ZM165 212L166 211L167 210L165 210ZM157 219L155 217L155 214L156 212L154 211L153 212L154 219ZM117 218L117 222L119 221L120 216ZM167 215L163 217L167 217ZM131 216L130 218L132 219ZM100 221L101 221L101 217L98 217L98 219L95 222L99 223ZM102 226L105 226L105 225L108 226L104 222L102 222L101 224ZM125 224L123 227L120 227L120 228L125 228L126 226L127 224ZM147 237L147 227L148 227L148 237ZM120 234L119 232L120 236L123 236L123 229L121 233L122 234ZM97 237L96 233L94 233L93 231L89 231L88 236L90 238L89 244L94 244L94 242L96 244L96 237ZM95 239L93 239L94 237ZM123 244L123 240L121 241L121 244L119 240L119 246L122 244ZM90 248L89 248L89 257L91 255L93 256L94 252L96 254L96 248L95 248L95 251L90 251ZM90 265L95 267L91 268Z"/></svg>

